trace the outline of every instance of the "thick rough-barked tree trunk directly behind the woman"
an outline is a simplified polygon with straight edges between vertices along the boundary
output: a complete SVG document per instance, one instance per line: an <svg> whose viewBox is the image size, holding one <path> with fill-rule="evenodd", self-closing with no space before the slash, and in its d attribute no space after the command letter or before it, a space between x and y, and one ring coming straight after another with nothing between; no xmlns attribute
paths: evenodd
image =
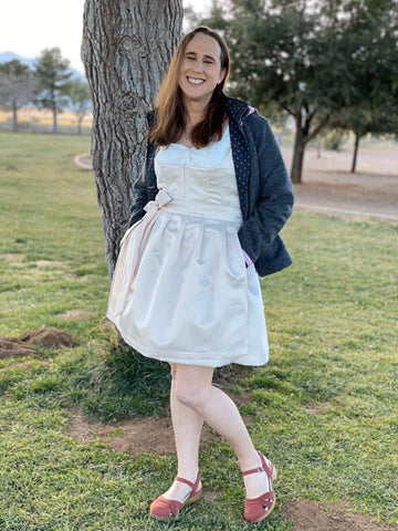
<svg viewBox="0 0 398 531"><path fill-rule="evenodd" d="M182 24L180 0L85 0L82 61L93 101L91 156L112 278L154 106Z"/></svg>

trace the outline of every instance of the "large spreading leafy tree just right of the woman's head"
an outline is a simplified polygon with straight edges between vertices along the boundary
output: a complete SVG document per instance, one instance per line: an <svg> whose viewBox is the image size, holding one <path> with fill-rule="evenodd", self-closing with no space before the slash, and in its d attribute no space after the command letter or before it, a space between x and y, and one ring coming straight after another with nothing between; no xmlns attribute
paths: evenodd
<svg viewBox="0 0 398 531"><path fill-rule="evenodd" d="M202 21L224 32L233 60L233 92L256 106L276 102L293 116L293 183L302 180L305 146L331 117L345 106L359 105L365 93L378 97L380 42L397 31L395 4L396 0L214 1L211 17ZM355 69L358 61L367 64L365 81Z"/></svg>

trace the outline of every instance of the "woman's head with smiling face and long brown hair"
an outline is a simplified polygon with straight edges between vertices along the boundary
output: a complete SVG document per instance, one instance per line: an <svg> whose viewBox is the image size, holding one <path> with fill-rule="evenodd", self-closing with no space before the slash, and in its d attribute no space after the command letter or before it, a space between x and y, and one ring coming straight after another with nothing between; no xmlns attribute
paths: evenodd
<svg viewBox="0 0 398 531"><path fill-rule="evenodd" d="M218 33L209 29L188 33L159 90L150 142L200 148L221 139L227 125L222 91L229 71L229 52Z"/></svg>

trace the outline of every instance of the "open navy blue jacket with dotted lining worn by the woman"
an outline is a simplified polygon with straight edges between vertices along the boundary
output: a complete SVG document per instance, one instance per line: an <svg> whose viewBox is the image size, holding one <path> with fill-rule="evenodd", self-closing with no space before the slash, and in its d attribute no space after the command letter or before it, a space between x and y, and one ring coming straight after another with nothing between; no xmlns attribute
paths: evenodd
<svg viewBox="0 0 398 531"><path fill-rule="evenodd" d="M280 148L266 118L239 98L226 96L232 158L243 222L238 231L242 249L260 277L292 263L279 236L293 210L293 189ZM147 115L148 125L154 112ZM128 228L146 211L144 206L159 191L154 167L156 146L147 143L142 175L133 185L134 202Z"/></svg>

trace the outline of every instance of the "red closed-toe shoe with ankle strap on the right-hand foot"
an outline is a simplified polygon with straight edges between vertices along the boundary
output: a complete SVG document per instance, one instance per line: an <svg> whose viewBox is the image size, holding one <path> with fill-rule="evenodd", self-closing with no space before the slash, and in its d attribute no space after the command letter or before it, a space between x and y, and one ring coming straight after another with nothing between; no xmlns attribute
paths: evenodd
<svg viewBox="0 0 398 531"><path fill-rule="evenodd" d="M261 458L262 467L253 468L251 470L245 470L243 476L254 472L266 472L270 480L270 491L264 492L258 498L247 498L244 502L244 519L248 522L261 522L264 518L268 518L273 508L275 507L275 492L272 488L272 481L276 480L277 471L276 468L270 461L270 466L266 465L264 456L259 451Z"/></svg>

